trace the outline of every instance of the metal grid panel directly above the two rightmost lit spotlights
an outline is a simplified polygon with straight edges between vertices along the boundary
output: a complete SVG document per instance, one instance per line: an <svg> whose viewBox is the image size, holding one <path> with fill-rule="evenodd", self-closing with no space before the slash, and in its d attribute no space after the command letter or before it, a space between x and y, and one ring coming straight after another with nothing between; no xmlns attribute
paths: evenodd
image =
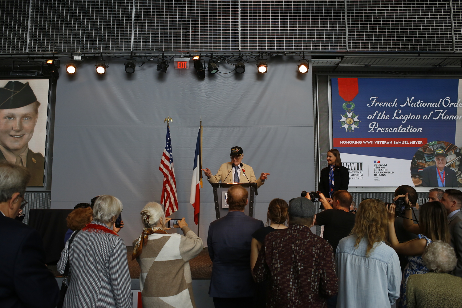
<svg viewBox="0 0 462 308"><path fill-rule="evenodd" d="M247 0L243 50L346 50L343 0Z"/></svg>

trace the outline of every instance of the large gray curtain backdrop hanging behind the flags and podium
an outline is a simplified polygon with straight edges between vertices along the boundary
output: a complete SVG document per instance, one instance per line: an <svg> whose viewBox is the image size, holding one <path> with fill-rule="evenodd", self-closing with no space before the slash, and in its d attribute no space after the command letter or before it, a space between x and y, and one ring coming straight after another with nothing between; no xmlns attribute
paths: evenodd
<svg viewBox="0 0 462 308"><path fill-rule="evenodd" d="M62 62L63 64L65 61ZM266 222L271 199L289 200L302 190L314 190L313 94L311 69L297 72L298 59L273 58L268 72L257 74L255 63L244 74L210 75L198 79L189 70L155 70L155 61L124 72L111 60L97 76L91 61L77 73L58 79L55 112L51 208L72 208L100 194L122 200L125 227L119 233L127 245L140 236L140 211L160 201L163 175L158 170L165 147L167 116L173 118L173 148L178 207L171 217L186 217L199 121L203 124L203 163L213 174L230 161L230 149L241 146L243 162L255 176L268 172L256 197L255 218ZM232 66L220 66L221 72ZM328 127L325 127L328 129ZM207 246L209 224L215 220L212 187L201 188L200 236ZM177 229L179 231L179 229Z"/></svg>

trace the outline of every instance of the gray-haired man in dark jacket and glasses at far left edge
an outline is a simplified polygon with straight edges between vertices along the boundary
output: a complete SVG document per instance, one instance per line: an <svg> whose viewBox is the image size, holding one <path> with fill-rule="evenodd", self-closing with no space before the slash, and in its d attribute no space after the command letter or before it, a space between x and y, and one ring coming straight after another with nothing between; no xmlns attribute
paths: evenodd
<svg viewBox="0 0 462 308"><path fill-rule="evenodd" d="M53 308L59 300L55 277L44 262L42 239L35 229L15 220L24 207L30 173L0 163L0 307Z"/></svg>

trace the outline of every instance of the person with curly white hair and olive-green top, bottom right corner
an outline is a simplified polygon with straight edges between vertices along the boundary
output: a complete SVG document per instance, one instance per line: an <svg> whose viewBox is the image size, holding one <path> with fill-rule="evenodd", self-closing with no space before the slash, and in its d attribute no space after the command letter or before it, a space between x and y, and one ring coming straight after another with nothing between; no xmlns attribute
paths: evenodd
<svg viewBox="0 0 462 308"><path fill-rule="evenodd" d="M448 274L457 263L454 248L434 241L425 249L422 260L430 272L409 276L407 308L461 308L462 278Z"/></svg>

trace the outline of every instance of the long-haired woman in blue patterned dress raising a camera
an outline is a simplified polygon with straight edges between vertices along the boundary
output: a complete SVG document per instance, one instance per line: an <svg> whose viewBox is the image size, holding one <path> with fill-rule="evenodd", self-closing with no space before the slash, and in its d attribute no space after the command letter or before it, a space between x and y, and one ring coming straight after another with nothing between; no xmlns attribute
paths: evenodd
<svg viewBox="0 0 462 308"><path fill-rule="evenodd" d="M395 197L395 202L399 198L401 198L401 196ZM406 217L410 217L412 204L407 197L407 193L404 196L404 205L405 210L409 212L407 213ZM441 240L449 243L450 234L444 206L436 201L427 202L420 207L419 211L419 223L422 234L419 234L419 237L416 239L400 243L395 233L395 207L396 205L394 203L387 205L389 242L391 248L395 249L396 253L404 254L407 256L407 260L409 262L404 269L403 277L401 280L401 295L397 305L397 307L406 308L407 278L413 274L425 274L428 272L428 269L423 263L421 257L425 248L432 242L432 240Z"/></svg>

